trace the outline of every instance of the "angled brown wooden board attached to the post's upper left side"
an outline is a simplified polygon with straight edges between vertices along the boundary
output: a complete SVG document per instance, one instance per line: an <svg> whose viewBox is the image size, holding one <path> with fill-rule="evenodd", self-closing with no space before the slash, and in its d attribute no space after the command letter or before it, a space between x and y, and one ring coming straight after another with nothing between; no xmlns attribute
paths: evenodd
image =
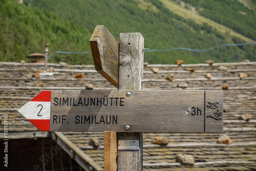
<svg viewBox="0 0 256 171"><path fill-rule="evenodd" d="M90 39L96 71L118 88L118 41L102 25L96 26Z"/></svg>

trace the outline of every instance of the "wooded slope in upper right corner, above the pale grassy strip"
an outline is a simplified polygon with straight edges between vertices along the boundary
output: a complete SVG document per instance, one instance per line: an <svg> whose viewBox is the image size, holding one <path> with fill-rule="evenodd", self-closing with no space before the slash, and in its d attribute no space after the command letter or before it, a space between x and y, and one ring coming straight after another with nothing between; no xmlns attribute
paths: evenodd
<svg viewBox="0 0 256 171"><path fill-rule="evenodd" d="M247 1L247 4L242 3L245 3L245 1L240 2L238 0L202 2L197 0L174 0L174 2L185 6L186 9L195 9L200 15L227 26L250 39L256 40L256 15L253 9L248 8L249 5L255 6L256 1ZM248 4L249 2L250 4Z"/></svg>

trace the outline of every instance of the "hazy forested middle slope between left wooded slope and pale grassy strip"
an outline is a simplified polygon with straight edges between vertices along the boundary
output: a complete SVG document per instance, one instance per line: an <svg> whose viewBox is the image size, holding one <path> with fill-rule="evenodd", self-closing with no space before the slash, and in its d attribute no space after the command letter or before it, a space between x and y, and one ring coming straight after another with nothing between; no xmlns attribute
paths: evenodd
<svg viewBox="0 0 256 171"><path fill-rule="evenodd" d="M41 0L31 5L46 8L63 18L86 26L90 33L96 25L104 25L117 40L121 32L141 32L145 47L150 49L207 49L219 44L250 40L239 33L232 34L231 29L223 33L206 22L198 23L194 18L174 13L158 0ZM217 62L241 61L246 58L254 61L255 52L255 46L221 47L200 53L184 50L146 52L145 61L173 63L182 59L185 63L201 63L209 58Z"/></svg>

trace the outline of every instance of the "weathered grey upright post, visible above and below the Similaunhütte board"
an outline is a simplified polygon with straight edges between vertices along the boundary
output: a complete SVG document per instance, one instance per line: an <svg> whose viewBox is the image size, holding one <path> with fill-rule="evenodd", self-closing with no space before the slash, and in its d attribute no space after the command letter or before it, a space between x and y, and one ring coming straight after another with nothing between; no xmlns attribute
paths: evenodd
<svg viewBox="0 0 256 171"><path fill-rule="evenodd" d="M143 46L141 33L120 33L119 35L119 90L142 90ZM124 125L125 126L125 125ZM131 130L133 128L131 127ZM139 140L139 151L118 151L117 169L143 169L143 134L117 134L117 140ZM118 143L118 142L117 142Z"/></svg>

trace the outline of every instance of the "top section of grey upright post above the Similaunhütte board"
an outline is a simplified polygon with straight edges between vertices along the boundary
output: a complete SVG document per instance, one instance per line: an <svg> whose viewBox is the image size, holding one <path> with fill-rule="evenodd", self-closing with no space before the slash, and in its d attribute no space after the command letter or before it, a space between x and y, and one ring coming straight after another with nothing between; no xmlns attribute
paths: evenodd
<svg viewBox="0 0 256 171"><path fill-rule="evenodd" d="M143 90L144 38L141 33L120 33L119 41L119 90Z"/></svg>

